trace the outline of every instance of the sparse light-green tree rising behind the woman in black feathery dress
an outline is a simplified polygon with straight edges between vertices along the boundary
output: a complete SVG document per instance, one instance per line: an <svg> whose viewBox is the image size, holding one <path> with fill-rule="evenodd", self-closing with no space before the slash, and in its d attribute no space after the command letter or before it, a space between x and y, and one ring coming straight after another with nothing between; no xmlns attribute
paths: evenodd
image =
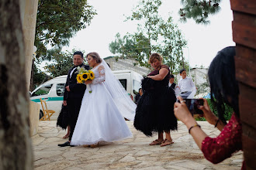
<svg viewBox="0 0 256 170"><path fill-rule="evenodd" d="M119 57L133 57L140 66L147 67L150 66L147 63L150 54L161 53L172 73L187 66L182 52L187 42L171 16L164 21L158 15L159 6L161 0L141 0L132 15L126 17L127 20L139 22L137 32L127 33L123 37L116 34L116 39L109 44L109 50Z"/></svg>

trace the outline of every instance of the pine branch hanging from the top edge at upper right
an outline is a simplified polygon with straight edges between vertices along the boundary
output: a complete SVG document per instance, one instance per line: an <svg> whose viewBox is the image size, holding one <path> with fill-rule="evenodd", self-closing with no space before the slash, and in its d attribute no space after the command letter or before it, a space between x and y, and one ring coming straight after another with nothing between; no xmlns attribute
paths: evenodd
<svg viewBox="0 0 256 170"><path fill-rule="evenodd" d="M183 8L178 14L180 20L186 22L187 19L194 19L198 24L209 24L209 15L220 11L221 0L181 0Z"/></svg>

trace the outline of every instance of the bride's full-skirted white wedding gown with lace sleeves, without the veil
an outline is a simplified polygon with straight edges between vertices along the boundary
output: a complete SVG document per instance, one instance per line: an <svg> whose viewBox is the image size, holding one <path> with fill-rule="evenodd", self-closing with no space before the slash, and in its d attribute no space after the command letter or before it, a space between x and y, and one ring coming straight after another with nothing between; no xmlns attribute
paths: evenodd
<svg viewBox="0 0 256 170"><path fill-rule="evenodd" d="M92 93L88 88L85 90L71 145L92 145L99 141L132 138L133 134L104 83L105 67L101 63L92 71L95 73L95 79L90 84Z"/></svg>

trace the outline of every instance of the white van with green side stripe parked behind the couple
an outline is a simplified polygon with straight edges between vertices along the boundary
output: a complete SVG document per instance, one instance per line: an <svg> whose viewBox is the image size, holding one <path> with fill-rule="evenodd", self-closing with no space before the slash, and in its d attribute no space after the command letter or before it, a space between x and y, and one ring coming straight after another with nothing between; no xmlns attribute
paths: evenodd
<svg viewBox="0 0 256 170"><path fill-rule="evenodd" d="M120 83L122 83L127 93L130 94L133 101L135 101L135 96L141 87L140 81L143 76L132 70L119 70L113 71L113 73ZM57 120L57 117L61 112L66 80L67 75L57 76L56 78L41 84L31 93L30 100L40 104L40 98L42 98L47 101L48 109L55 111L50 117L50 120ZM43 117L42 107L40 107L40 117Z"/></svg>

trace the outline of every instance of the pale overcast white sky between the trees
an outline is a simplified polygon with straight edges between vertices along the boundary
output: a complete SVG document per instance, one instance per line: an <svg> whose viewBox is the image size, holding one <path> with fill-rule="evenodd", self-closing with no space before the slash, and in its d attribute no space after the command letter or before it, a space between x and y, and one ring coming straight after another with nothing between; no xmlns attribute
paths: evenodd
<svg viewBox="0 0 256 170"><path fill-rule="evenodd" d="M115 40L116 33L121 37L127 32L137 31L137 22L124 22L126 16L132 14L133 8L139 0L88 0L98 15L92 23L70 39L70 45L63 51L72 49L85 50L85 53L97 52L102 58L114 56L109 51L109 43ZM198 25L189 19L188 22L179 22L178 10L182 8L180 0L162 0L159 13L163 19L171 14L178 28L182 30L188 46L184 49L185 59L191 67L208 67L216 53L226 46L235 46L232 38L233 13L230 1L220 2L221 10L218 14L210 16L209 25Z"/></svg>

